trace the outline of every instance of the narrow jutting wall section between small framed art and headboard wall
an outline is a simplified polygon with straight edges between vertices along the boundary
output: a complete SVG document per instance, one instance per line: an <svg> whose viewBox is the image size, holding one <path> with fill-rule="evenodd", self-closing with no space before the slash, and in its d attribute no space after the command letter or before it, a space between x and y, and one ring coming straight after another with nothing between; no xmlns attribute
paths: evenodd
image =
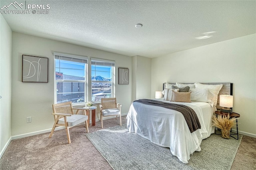
<svg viewBox="0 0 256 170"><path fill-rule="evenodd" d="M132 99L151 98L151 58L132 57Z"/></svg>

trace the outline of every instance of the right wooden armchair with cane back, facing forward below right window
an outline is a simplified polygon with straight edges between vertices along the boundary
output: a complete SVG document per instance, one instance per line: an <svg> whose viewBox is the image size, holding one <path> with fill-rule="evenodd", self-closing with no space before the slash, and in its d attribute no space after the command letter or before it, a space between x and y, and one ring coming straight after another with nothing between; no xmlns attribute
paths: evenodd
<svg viewBox="0 0 256 170"><path fill-rule="evenodd" d="M116 98L102 98L100 105L100 121L101 128L103 128L103 117L120 115L120 126L122 126L121 119L121 107L119 103L116 103Z"/></svg>

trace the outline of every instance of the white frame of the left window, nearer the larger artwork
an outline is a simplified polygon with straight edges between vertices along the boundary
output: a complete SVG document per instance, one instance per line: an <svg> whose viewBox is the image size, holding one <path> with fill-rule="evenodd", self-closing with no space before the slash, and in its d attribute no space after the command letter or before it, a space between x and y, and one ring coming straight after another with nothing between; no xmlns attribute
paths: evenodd
<svg viewBox="0 0 256 170"><path fill-rule="evenodd" d="M72 103L72 105L84 105L88 101L88 60L89 58L87 56L80 56L80 55L71 55L71 54L65 54L65 53L56 53L54 52L54 103L57 103L57 82L61 83L69 83L69 82L75 82L75 83L84 83L84 102L81 103ZM66 57L70 58L71 60L66 60L66 61L74 61L74 62L79 62L83 61L80 63L85 64L84 68L84 80L58 80L56 79L56 57ZM65 60L65 59L64 59Z"/></svg>

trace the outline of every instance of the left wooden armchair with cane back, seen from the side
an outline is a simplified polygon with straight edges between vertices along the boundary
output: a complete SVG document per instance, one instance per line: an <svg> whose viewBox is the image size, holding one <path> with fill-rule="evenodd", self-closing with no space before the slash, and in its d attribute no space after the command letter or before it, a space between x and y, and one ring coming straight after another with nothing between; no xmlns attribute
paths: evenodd
<svg viewBox="0 0 256 170"><path fill-rule="evenodd" d="M87 130L87 132L89 132L88 123L87 123L88 116L87 115L77 115L78 112L76 114L74 114L73 109L80 109L80 108L73 108L71 101L52 105L52 110L53 110L52 115L54 116L54 125L52 127L52 131L50 133L49 138L52 137L52 134L56 127L64 126L66 128L68 143L71 143L69 128L76 126L83 122L85 122L86 130Z"/></svg>

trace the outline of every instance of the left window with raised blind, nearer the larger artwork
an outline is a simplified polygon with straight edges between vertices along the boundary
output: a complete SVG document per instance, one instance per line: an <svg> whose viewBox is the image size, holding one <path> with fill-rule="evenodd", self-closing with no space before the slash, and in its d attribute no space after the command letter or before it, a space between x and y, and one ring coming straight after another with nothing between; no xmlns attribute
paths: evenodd
<svg viewBox="0 0 256 170"><path fill-rule="evenodd" d="M72 101L85 103L86 70L88 58L76 55L54 53L55 61L55 103Z"/></svg>

